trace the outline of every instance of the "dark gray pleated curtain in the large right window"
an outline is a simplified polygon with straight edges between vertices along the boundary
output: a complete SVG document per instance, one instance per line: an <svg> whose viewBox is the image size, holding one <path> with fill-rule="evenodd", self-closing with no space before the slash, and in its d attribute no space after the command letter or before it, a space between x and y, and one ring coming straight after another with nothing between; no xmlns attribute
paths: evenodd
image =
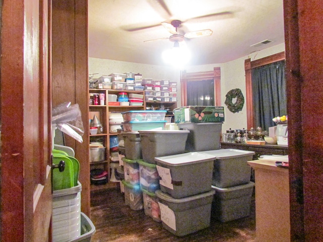
<svg viewBox="0 0 323 242"><path fill-rule="evenodd" d="M273 117L287 115L285 61L252 69L251 80L255 124L268 131Z"/></svg>

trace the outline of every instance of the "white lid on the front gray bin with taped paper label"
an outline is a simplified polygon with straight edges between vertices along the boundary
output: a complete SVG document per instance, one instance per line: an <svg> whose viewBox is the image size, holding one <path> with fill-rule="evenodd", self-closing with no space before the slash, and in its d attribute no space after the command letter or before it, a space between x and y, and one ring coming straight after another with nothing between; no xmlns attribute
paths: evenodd
<svg viewBox="0 0 323 242"><path fill-rule="evenodd" d="M169 166L180 166L206 162L214 160L214 158L216 158L214 155L203 154L200 152L188 152L178 155L155 157L155 161Z"/></svg>

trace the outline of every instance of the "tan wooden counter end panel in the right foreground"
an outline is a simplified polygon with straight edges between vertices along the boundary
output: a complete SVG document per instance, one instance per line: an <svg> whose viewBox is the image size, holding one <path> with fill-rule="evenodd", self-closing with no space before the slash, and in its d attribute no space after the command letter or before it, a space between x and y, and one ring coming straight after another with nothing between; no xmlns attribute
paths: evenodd
<svg viewBox="0 0 323 242"><path fill-rule="evenodd" d="M274 161L253 160L255 170L256 241L289 242L289 174Z"/></svg>

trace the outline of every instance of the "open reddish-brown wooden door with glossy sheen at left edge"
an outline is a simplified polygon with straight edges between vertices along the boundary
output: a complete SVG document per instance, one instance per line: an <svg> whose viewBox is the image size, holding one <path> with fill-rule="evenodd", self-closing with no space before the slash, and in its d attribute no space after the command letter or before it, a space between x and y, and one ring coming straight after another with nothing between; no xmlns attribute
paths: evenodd
<svg viewBox="0 0 323 242"><path fill-rule="evenodd" d="M50 0L2 1L2 241L51 241Z"/></svg>

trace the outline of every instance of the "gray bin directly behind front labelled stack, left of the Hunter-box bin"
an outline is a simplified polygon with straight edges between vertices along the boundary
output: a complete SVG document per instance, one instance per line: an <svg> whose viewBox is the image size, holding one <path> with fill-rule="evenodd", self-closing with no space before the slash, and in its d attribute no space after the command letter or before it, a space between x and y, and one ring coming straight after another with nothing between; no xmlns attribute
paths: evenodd
<svg viewBox="0 0 323 242"><path fill-rule="evenodd" d="M157 156L182 154L189 131L180 130L139 130L142 159L155 164Z"/></svg>

